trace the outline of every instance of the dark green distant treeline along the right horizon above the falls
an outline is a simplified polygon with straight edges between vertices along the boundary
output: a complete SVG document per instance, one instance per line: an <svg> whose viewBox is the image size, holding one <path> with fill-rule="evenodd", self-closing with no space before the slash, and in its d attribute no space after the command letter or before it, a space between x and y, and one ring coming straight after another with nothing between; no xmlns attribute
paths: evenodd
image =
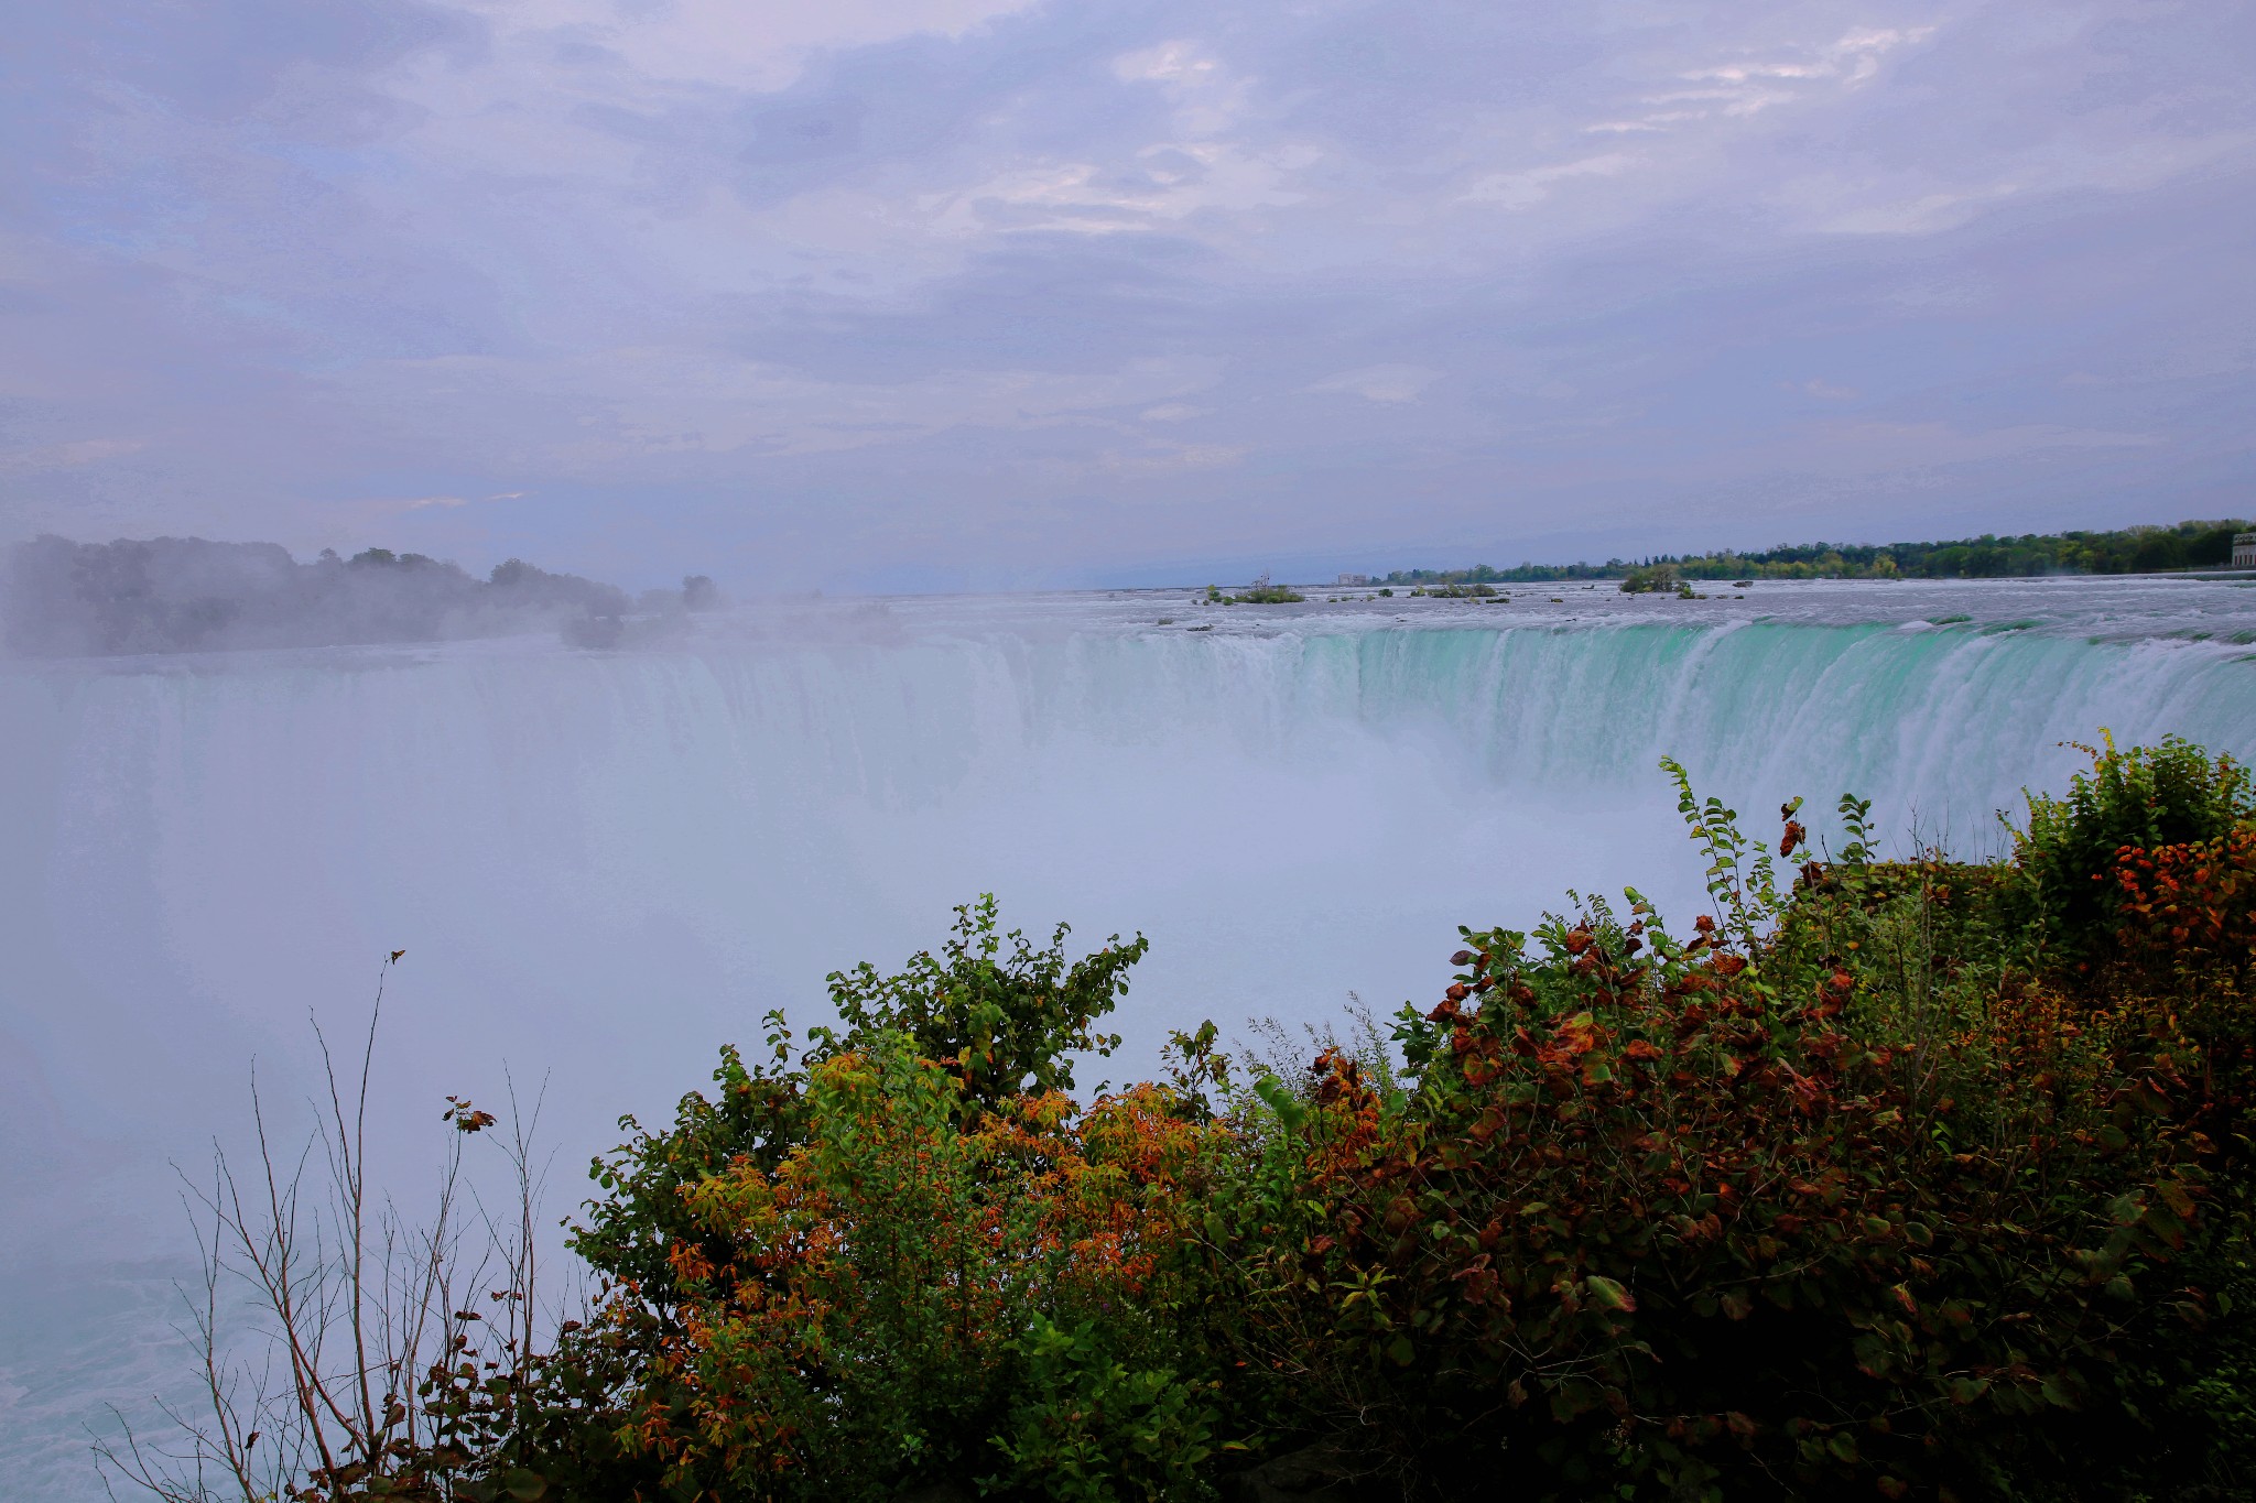
<svg viewBox="0 0 2256 1503"><path fill-rule="evenodd" d="M1394 570L1385 584L1536 584L1620 579L1633 568L1674 566L1683 579L2017 579L2030 575L2145 575L2224 568L2245 521L2123 527L2118 532L1981 534L1949 543L1800 543L1760 552L1658 554L1604 563L1521 563L1518 568Z"/></svg>

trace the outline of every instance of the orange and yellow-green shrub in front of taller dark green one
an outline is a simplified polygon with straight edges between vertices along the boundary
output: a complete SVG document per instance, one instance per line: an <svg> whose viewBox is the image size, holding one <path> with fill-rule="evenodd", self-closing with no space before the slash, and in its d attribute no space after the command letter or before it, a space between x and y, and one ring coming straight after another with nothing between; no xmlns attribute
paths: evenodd
<svg viewBox="0 0 2256 1503"><path fill-rule="evenodd" d="M625 1449L693 1494L1081 1496L1036 1458L1135 1433L1103 1496L1196 1496L1211 1361L1171 1316L1211 1293L1184 1226L1211 1129L1148 1088L968 1118L905 1034L819 1061L805 1100L783 1163L684 1192L702 1237L670 1248L679 1332L641 1379L666 1404L638 1404Z"/></svg>

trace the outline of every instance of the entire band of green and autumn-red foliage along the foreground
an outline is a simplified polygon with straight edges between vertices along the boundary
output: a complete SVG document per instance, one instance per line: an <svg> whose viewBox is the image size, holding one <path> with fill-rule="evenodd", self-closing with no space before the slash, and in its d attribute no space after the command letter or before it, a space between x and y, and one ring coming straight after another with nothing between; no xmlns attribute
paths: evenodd
<svg viewBox="0 0 2256 1503"><path fill-rule="evenodd" d="M1462 931L1394 1034L1076 1102L1142 937L959 913L596 1165L584 1323L365 1496L2249 1496L2256 827L2091 750L2017 852L1681 809L1710 913ZM363 1496L332 1487L318 1496ZM1248 1494L1250 1496L1250 1494Z"/></svg>

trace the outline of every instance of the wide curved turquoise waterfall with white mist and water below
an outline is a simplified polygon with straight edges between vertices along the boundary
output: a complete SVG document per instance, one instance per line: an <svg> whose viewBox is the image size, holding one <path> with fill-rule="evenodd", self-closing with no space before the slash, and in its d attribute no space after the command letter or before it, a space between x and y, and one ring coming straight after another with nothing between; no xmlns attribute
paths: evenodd
<svg viewBox="0 0 2256 1503"><path fill-rule="evenodd" d="M1852 789L1967 852L2100 726L2256 755L2236 584L1552 588L0 669L0 1492L99 1496L102 1406L180 1393L167 1160L241 1142L253 1057L305 1095L307 1014L365 1019L390 949L379 1170L415 1181L440 1095L508 1066L548 1079L562 1210L618 1113L767 1007L821 1021L828 969L934 944L981 890L1029 931L1153 937L1135 1070L1202 1016L1426 996L1460 922L1566 888L1690 915L1663 753L1757 834Z"/></svg>

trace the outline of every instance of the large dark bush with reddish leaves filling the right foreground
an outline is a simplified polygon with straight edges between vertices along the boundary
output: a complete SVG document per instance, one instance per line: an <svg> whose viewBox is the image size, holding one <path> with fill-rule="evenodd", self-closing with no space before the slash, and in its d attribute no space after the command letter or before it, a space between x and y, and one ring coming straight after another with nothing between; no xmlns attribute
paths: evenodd
<svg viewBox="0 0 2256 1503"><path fill-rule="evenodd" d="M1636 895L1466 931L1403 1019L1403 1091L1318 1061L1268 1291L1324 1341L1272 1361L1365 1471L1460 1496L1505 1469L1530 1498L2245 1485L2215 1059L2179 1005L2017 969L2015 874L1875 863L1843 811L1852 861L1780 890L1685 789L1719 908L1690 937Z"/></svg>

